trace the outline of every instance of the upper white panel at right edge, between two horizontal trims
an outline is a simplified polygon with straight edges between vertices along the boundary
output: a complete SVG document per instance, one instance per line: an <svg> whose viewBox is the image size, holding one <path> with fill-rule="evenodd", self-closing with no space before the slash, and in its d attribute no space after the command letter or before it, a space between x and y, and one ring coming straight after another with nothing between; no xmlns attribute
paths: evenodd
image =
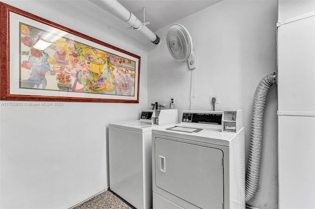
<svg viewBox="0 0 315 209"><path fill-rule="evenodd" d="M278 27L278 109L315 111L315 16Z"/></svg>

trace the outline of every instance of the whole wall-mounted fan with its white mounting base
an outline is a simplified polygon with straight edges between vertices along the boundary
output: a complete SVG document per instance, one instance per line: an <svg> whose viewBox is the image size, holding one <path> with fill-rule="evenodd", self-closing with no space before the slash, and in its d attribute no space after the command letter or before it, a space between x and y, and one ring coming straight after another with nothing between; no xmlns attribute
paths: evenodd
<svg viewBox="0 0 315 209"><path fill-rule="evenodd" d="M196 53L192 50L192 39L188 30L179 24L168 29L166 43L171 55L178 61L188 60L189 69L196 68Z"/></svg>

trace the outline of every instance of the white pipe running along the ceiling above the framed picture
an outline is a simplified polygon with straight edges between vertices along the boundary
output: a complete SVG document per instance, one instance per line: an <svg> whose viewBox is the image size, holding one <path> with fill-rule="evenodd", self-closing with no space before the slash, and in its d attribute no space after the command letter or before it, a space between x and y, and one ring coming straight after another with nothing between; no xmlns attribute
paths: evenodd
<svg viewBox="0 0 315 209"><path fill-rule="evenodd" d="M121 3L117 0L100 0L100 2L114 12L119 18L124 20L127 24L133 27L136 30L139 30L143 35L145 35L150 41L154 44L158 44L160 38L157 34L152 32L147 26L142 24L137 17L132 14L129 10L126 9Z"/></svg>

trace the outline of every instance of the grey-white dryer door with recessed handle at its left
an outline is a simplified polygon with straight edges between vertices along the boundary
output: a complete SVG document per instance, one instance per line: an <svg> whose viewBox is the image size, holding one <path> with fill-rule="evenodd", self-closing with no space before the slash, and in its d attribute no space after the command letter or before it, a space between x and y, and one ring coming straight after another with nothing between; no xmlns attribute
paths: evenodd
<svg viewBox="0 0 315 209"><path fill-rule="evenodd" d="M156 138L156 185L199 208L221 209L222 157L219 149Z"/></svg>

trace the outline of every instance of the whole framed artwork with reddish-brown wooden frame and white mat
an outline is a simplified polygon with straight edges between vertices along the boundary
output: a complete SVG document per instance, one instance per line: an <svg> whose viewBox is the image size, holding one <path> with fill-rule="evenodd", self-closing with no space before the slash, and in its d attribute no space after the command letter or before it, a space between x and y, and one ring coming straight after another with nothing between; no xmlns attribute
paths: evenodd
<svg viewBox="0 0 315 209"><path fill-rule="evenodd" d="M1 100L139 103L140 56L0 2Z"/></svg>

